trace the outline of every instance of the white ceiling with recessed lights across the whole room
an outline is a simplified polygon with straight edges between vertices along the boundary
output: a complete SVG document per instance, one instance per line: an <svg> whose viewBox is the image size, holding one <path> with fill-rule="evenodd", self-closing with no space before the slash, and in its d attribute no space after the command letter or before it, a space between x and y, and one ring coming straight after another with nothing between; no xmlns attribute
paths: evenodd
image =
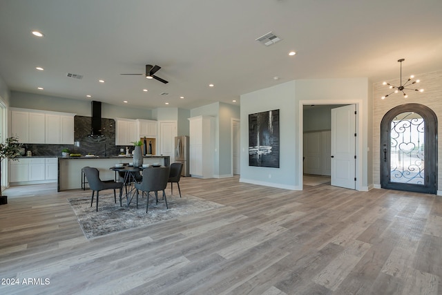
<svg viewBox="0 0 442 295"><path fill-rule="evenodd" d="M440 70L441 15L440 0L1 0L0 75L12 91L115 105L239 104L293 79L397 79L400 58L403 75ZM270 31L282 41L255 41ZM119 75L146 64L169 84Z"/></svg>

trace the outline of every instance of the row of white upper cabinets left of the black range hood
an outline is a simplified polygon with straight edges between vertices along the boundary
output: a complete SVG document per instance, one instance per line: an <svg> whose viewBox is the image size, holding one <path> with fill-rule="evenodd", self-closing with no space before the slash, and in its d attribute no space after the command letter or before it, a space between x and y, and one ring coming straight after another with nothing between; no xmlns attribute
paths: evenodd
<svg viewBox="0 0 442 295"><path fill-rule="evenodd" d="M11 135L26 144L74 144L73 113L10 108Z"/></svg>

